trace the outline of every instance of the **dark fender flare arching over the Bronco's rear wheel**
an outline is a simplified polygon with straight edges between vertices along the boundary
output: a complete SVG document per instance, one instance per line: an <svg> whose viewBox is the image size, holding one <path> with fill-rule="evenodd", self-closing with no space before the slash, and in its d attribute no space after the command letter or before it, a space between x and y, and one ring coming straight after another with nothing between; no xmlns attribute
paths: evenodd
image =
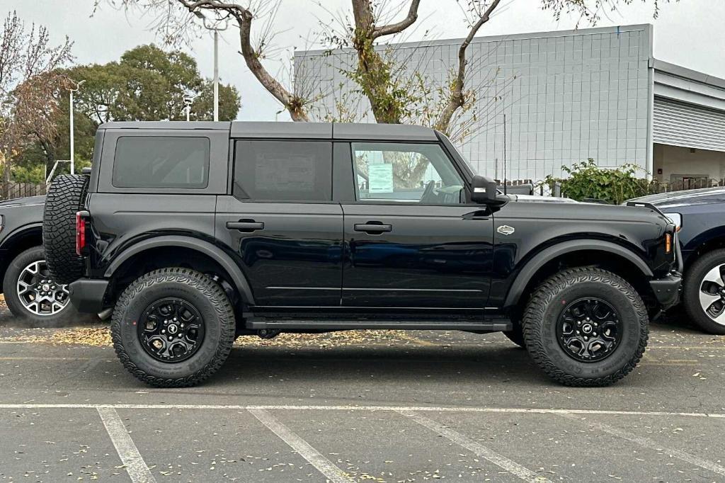
<svg viewBox="0 0 725 483"><path fill-rule="evenodd" d="M241 296L241 299L249 305L254 305L254 296L252 295L252 289L249 286L247 277L244 276L244 273L242 273L241 269L239 268L239 265L234 263L234 260L232 260L232 258L228 254L226 254L223 249L220 249L220 247L211 244L209 241L191 238L188 236L162 235L139 241L138 243L134 244L133 247L125 249L119 255L114 257L113 261L106 269L104 277L112 277L113 273L117 271L117 269L121 265L123 265L126 260L129 260L130 257L138 255L141 252L145 252L147 249L158 247L189 248L212 258L212 260L215 260L215 262L221 265L226 273L229 274L229 276L231 277L230 281L236 287L239 295Z"/></svg>

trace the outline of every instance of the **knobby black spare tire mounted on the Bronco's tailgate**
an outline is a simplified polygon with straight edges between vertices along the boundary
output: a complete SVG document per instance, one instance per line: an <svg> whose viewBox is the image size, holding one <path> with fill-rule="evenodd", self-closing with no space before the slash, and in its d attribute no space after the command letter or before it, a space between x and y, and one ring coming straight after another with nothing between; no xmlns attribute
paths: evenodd
<svg viewBox="0 0 725 483"><path fill-rule="evenodd" d="M83 258L75 253L75 213L83 210L88 176L60 175L53 180L43 213L43 245L51 277L70 284L83 276Z"/></svg>

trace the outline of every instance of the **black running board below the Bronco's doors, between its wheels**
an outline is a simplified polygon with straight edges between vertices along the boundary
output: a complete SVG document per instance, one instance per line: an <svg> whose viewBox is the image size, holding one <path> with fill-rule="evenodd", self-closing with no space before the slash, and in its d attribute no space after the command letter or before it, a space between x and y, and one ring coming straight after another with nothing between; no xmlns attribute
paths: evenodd
<svg viewBox="0 0 725 483"><path fill-rule="evenodd" d="M247 319L247 329L276 330L326 330L344 331L351 329L398 329L398 330L439 330L439 331L510 331L513 325L505 318L489 319L481 322L460 321L265 321Z"/></svg>

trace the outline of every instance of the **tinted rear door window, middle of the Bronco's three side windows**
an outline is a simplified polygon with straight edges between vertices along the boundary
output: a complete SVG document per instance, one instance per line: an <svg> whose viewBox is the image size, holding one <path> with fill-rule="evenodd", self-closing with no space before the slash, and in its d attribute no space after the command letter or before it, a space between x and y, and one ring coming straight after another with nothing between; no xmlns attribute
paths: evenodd
<svg viewBox="0 0 725 483"><path fill-rule="evenodd" d="M236 141L233 195L260 201L332 199L332 143Z"/></svg>

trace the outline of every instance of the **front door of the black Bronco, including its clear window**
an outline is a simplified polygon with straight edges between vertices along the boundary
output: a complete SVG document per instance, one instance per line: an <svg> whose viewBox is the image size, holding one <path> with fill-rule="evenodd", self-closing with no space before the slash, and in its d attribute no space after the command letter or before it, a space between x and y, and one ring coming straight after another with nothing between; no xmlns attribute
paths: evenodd
<svg viewBox="0 0 725 483"><path fill-rule="evenodd" d="M439 144L351 143L355 202L345 202L342 302L348 307L481 309L493 219L465 202Z"/></svg>

